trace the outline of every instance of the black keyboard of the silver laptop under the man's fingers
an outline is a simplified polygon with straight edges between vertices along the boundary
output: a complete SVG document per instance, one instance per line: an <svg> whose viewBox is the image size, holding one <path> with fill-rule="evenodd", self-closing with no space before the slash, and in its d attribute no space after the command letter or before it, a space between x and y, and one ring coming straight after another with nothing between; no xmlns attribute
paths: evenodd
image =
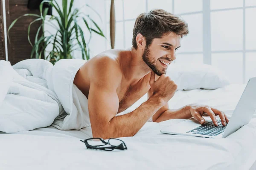
<svg viewBox="0 0 256 170"><path fill-rule="evenodd" d="M218 136L224 132L227 125L223 126L221 124L221 120L217 120L217 122L218 122L218 126L215 126L211 121L204 125L196 127L195 129L189 130L186 133L193 133L193 134L200 134L200 135L207 135L207 136Z"/></svg>

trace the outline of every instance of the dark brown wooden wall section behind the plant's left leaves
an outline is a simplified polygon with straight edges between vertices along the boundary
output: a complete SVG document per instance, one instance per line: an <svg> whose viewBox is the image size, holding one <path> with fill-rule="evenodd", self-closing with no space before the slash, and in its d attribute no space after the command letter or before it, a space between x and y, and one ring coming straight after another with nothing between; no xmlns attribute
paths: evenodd
<svg viewBox="0 0 256 170"><path fill-rule="evenodd" d="M40 14L39 9L30 10L27 8L28 1L29 0L6 0L7 29L9 28L12 21L23 14ZM27 33L29 23L35 19L36 17L23 17L18 20L9 31L11 44L8 42L8 60L12 65L21 60L30 58L32 46L29 44ZM30 40L32 44L35 42L35 35L40 25L41 21L38 21L34 23L30 28Z"/></svg>

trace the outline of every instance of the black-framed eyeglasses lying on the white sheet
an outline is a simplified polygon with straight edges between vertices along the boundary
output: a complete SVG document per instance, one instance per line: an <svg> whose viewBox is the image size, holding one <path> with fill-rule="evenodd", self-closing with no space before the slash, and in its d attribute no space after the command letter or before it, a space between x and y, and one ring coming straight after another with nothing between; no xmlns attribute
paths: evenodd
<svg viewBox="0 0 256 170"><path fill-rule="evenodd" d="M118 150L127 149L125 142L115 138L108 139L108 142L105 142L102 138L90 138L90 139L85 139L84 141L82 140L80 141L84 142L87 149L99 149L99 150L106 150L106 151L111 151L114 149L118 149Z"/></svg>

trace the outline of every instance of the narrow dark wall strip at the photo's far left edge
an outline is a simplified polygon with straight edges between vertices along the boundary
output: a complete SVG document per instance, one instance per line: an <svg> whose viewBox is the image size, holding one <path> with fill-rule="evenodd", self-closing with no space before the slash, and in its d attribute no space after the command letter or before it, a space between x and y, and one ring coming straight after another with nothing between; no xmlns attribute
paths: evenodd
<svg viewBox="0 0 256 170"><path fill-rule="evenodd" d="M0 60L5 59L5 45L3 32L3 10L2 0L0 0Z"/></svg>

